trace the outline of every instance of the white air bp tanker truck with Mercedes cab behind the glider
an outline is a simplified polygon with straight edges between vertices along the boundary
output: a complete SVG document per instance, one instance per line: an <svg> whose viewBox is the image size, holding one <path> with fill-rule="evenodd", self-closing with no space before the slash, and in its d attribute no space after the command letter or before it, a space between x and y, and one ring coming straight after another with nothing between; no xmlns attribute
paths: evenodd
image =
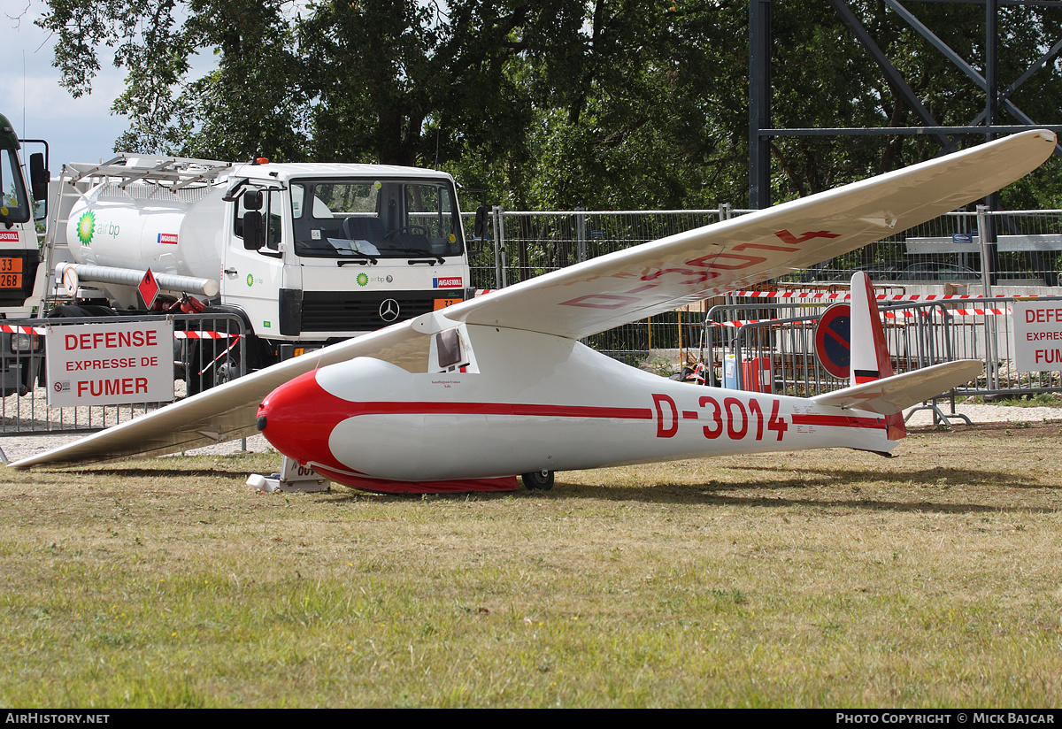
<svg viewBox="0 0 1062 729"><path fill-rule="evenodd" d="M247 370L276 362L284 344L372 331L460 301L470 285L457 190L442 172L119 155L65 164L52 185L42 264L74 299L52 313L183 301L236 314ZM138 292L149 270L154 301ZM239 364L206 360L203 387Z"/></svg>

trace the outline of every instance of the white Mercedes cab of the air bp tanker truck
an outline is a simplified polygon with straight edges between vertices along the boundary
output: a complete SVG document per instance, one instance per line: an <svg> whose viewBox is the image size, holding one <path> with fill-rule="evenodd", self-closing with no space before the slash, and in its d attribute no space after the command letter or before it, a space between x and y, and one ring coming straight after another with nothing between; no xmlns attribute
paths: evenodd
<svg viewBox="0 0 1062 729"><path fill-rule="evenodd" d="M259 336L323 343L464 298L469 272L449 175L369 164L254 173L233 201L221 298Z"/></svg>

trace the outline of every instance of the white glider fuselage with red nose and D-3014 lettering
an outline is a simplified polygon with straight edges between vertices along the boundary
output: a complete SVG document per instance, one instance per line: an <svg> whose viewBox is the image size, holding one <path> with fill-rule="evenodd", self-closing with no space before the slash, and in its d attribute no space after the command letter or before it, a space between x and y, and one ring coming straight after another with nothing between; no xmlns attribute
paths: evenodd
<svg viewBox="0 0 1062 729"><path fill-rule="evenodd" d="M263 401L263 434L340 483L407 492L539 470L895 446L873 413L675 382L549 334L462 329L476 371L414 374L374 358L316 369Z"/></svg>

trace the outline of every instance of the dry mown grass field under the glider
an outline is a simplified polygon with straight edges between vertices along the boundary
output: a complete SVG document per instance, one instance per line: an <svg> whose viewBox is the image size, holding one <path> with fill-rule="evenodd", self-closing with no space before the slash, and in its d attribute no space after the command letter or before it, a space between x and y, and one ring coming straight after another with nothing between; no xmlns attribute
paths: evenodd
<svg viewBox="0 0 1062 729"><path fill-rule="evenodd" d="M255 493L263 455L3 470L0 706L1059 706L1060 440L445 498Z"/></svg>

